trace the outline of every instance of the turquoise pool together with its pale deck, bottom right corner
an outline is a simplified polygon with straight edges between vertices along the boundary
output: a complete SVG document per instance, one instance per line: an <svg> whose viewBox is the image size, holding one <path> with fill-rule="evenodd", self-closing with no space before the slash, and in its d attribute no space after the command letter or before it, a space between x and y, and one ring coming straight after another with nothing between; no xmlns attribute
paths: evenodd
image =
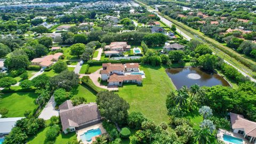
<svg viewBox="0 0 256 144"><path fill-rule="evenodd" d="M227 144L249 144L250 142L243 138L243 135L219 129L217 138Z"/></svg>

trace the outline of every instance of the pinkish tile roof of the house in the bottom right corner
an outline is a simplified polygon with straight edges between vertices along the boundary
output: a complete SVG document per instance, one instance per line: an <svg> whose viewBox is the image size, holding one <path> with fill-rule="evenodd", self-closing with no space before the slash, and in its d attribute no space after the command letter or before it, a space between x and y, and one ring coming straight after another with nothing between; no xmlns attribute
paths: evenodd
<svg viewBox="0 0 256 144"><path fill-rule="evenodd" d="M230 113L232 129L244 129L246 135L256 137L256 123L244 118L243 115Z"/></svg>

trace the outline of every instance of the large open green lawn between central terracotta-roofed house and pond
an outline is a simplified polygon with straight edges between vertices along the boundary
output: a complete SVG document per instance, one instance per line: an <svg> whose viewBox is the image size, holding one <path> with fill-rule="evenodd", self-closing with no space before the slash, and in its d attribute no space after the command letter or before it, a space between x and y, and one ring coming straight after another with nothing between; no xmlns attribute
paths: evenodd
<svg viewBox="0 0 256 144"><path fill-rule="evenodd" d="M168 121L165 106L166 95L175 90L171 79L165 73L164 67L140 66L146 78L143 86L125 84L119 88L118 94L130 104L129 111L140 111L157 124Z"/></svg>

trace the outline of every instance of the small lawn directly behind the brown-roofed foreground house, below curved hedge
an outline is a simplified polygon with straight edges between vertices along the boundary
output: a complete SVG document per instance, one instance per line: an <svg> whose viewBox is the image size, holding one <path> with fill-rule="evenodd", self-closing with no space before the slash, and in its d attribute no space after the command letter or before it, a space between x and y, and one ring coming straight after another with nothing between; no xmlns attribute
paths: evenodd
<svg viewBox="0 0 256 144"><path fill-rule="evenodd" d="M73 91L74 97L83 97L87 102L95 102L96 96L84 85L78 85Z"/></svg>

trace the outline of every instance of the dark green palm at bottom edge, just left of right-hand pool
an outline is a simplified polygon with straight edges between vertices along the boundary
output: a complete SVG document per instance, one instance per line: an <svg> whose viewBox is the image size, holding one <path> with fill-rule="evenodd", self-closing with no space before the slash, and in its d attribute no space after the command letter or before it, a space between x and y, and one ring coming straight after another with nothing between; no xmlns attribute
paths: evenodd
<svg viewBox="0 0 256 144"><path fill-rule="evenodd" d="M196 132L195 142L198 144L210 144L212 142L212 134L208 129L200 129Z"/></svg>

